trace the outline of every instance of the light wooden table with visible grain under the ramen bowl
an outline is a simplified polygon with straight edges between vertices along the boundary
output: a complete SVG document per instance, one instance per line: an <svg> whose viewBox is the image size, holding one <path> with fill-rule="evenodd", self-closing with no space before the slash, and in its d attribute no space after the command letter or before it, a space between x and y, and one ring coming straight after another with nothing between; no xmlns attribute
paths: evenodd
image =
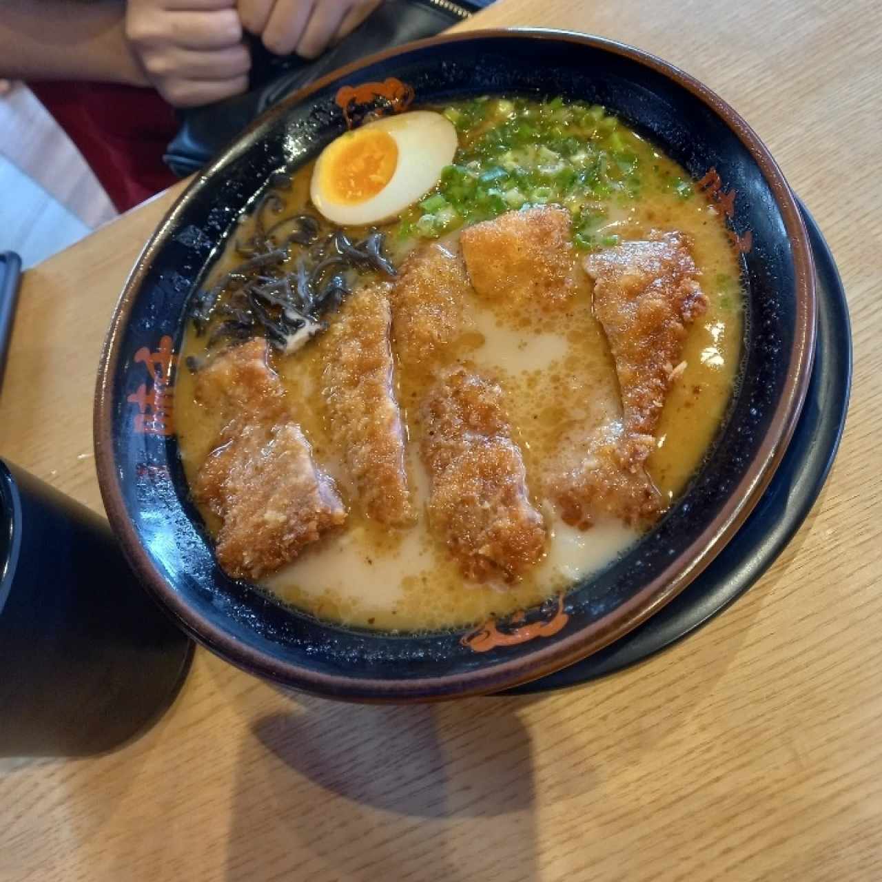
<svg viewBox="0 0 882 882"><path fill-rule="evenodd" d="M542 698L292 699L200 651L136 744L0 766L0 879L882 878L880 9L503 0L465 25L584 30L682 66L825 231L854 323L848 429L750 594L653 661ZM0 454L95 508L101 338L179 189L26 274Z"/></svg>

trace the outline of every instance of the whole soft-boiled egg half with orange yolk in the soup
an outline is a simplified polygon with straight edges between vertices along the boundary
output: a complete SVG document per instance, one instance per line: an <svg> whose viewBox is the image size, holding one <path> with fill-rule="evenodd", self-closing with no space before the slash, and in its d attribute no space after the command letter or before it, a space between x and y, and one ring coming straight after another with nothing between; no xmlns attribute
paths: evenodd
<svg viewBox="0 0 882 882"><path fill-rule="evenodd" d="M430 110L367 123L322 151L312 172L312 203L344 227L390 220L435 186L456 147L452 123Z"/></svg>

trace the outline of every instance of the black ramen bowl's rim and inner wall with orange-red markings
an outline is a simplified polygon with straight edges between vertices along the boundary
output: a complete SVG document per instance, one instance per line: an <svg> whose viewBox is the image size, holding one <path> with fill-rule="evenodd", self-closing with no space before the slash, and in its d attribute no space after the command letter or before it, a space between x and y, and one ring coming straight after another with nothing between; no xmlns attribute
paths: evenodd
<svg viewBox="0 0 882 882"><path fill-rule="evenodd" d="M417 102L533 93L600 103L718 188L721 206L731 206L734 234L751 245L744 252L750 296L740 384L690 487L630 553L574 587L563 614L529 610L527 624L535 626L519 634L534 639L484 652L464 643L461 632L393 636L319 623L228 579L188 501L172 433L174 353L206 265L274 172L309 160L344 130L340 88L387 78L412 86ZM182 626L259 676L363 700L449 698L526 682L652 616L756 504L804 398L813 278L793 195L759 138L714 93L659 59L550 31L445 36L372 56L263 116L191 184L138 259L98 379L95 445L110 522L141 579ZM504 632L513 627L498 624Z"/></svg>

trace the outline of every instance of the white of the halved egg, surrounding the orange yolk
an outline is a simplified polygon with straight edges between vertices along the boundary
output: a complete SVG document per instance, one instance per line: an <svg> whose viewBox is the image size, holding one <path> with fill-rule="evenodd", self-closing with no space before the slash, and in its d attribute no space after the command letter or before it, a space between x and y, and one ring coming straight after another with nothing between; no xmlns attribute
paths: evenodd
<svg viewBox="0 0 882 882"><path fill-rule="evenodd" d="M453 161L458 144L452 123L430 110L388 116L362 128L387 132L398 147L398 162L389 183L375 196L355 205L344 204L329 198L322 187L323 160L337 142L325 147L312 172L310 198L329 221L343 227L362 227L397 217L435 186L442 169Z"/></svg>

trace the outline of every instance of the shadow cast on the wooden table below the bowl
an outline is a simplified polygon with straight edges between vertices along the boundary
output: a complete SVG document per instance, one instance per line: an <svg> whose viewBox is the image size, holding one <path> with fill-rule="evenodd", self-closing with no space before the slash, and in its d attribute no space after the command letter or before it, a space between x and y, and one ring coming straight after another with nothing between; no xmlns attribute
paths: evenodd
<svg viewBox="0 0 882 882"><path fill-rule="evenodd" d="M228 879L272 878L296 853L291 878L458 882L491 876L505 851L534 878L534 764L518 706L292 699L254 726L264 772L251 768L235 797L228 841L243 853L228 856ZM253 745L244 755L254 762Z"/></svg>

